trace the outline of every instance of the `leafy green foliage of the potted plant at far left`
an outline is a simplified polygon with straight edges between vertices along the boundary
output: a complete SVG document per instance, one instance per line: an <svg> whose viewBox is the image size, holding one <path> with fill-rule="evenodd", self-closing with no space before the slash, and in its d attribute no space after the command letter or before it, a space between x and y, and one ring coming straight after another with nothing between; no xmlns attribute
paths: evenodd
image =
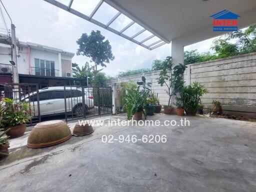
<svg viewBox="0 0 256 192"><path fill-rule="evenodd" d="M10 98L4 98L2 102L4 104L1 109L1 115L4 126L25 124L30 120L28 102L14 102Z"/></svg>

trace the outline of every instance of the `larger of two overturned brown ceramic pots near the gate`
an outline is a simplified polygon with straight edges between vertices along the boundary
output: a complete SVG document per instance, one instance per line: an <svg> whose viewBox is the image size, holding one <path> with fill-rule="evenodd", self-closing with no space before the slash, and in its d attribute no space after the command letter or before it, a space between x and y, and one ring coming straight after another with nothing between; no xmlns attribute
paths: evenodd
<svg viewBox="0 0 256 192"><path fill-rule="evenodd" d="M41 148L59 144L72 136L67 124L62 120L48 120L37 123L27 138L27 147Z"/></svg>

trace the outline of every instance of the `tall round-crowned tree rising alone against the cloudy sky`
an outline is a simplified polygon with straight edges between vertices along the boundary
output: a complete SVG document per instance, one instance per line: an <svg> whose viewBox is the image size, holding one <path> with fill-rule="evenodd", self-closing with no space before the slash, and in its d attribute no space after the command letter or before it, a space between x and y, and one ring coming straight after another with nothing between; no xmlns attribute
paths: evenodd
<svg viewBox="0 0 256 192"><path fill-rule="evenodd" d="M109 41L100 33L99 30L92 30L89 35L82 33L76 43L79 48L76 55L88 56L94 62L94 72L97 72L97 65L106 67L105 63L113 60L112 48Z"/></svg>

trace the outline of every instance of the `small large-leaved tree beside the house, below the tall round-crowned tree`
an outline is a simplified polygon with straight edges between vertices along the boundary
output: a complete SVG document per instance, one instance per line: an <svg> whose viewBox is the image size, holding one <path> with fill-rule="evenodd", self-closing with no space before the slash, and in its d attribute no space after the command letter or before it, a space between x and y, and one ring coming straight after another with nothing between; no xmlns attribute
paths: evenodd
<svg viewBox="0 0 256 192"><path fill-rule="evenodd" d="M76 85L87 85L87 76L88 78L88 84L91 83L91 78L93 76L92 73L92 67L89 65L89 63L86 61L85 64L80 68L78 65L72 68L73 71L73 77L84 79L84 81L75 80Z"/></svg>

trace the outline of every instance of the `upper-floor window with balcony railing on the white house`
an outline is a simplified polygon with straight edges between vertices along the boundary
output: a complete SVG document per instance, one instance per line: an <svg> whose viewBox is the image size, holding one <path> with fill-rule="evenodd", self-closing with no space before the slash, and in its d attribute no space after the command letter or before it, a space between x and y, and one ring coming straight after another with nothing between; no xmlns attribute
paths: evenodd
<svg viewBox="0 0 256 192"><path fill-rule="evenodd" d="M32 71L33 74L33 71ZM54 61L44 59L34 59L34 74L41 76L55 76Z"/></svg>

